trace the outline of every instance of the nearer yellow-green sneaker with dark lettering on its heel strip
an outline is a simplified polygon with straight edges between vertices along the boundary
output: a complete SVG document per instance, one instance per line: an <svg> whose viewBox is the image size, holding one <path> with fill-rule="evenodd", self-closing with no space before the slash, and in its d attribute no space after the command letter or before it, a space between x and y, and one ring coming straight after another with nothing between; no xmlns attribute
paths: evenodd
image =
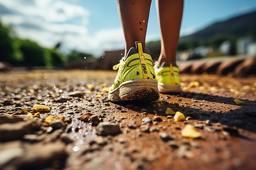
<svg viewBox="0 0 256 170"><path fill-rule="evenodd" d="M121 100L158 100L158 82L153 67L153 61L144 42L135 42L136 48L131 48L126 58L113 66L118 69L114 84L110 87L108 99Z"/></svg>

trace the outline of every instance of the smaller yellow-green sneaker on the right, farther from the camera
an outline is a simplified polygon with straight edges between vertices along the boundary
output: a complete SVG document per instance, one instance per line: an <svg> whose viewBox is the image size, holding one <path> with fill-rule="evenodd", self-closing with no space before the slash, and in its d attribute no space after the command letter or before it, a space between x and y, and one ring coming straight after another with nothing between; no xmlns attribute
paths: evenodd
<svg viewBox="0 0 256 170"><path fill-rule="evenodd" d="M158 90L163 94L175 94L181 92L180 75L176 62L155 62L155 74L158 81Z"/></svg>

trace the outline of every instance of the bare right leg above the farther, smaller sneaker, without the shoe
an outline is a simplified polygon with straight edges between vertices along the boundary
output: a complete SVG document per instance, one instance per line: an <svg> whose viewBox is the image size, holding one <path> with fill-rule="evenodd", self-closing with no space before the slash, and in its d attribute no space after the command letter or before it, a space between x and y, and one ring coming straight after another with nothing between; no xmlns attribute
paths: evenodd
<svg viewBox="0 0 256 170"><path fill-rule="evenodd" d="M183 0L156 1L161 31L161 52L158 59L162 62L175 62L180 24L183 14Z"/></svg>

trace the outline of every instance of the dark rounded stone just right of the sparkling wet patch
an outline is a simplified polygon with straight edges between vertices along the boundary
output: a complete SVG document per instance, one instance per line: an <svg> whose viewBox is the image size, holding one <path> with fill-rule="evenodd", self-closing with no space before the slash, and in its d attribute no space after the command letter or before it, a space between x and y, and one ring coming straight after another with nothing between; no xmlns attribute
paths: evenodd
<svg viewBox="0 0 256 170"><path fill-rule="evenodd" d="M98 135L117 135L121 133L120 127L114 122L100 122L96 127Z"/></svg>

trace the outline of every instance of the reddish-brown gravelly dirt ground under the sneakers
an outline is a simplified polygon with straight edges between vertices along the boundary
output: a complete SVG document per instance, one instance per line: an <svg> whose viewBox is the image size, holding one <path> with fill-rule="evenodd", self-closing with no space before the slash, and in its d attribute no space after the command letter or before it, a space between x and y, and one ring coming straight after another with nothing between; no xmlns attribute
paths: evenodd
<svg viewBox="0 0 256 170"><path fill-rule="evenodd" d="M179 95L112 103L115 75L0 73L0 169L256 169L255 77L181 74Z"/></svg>

